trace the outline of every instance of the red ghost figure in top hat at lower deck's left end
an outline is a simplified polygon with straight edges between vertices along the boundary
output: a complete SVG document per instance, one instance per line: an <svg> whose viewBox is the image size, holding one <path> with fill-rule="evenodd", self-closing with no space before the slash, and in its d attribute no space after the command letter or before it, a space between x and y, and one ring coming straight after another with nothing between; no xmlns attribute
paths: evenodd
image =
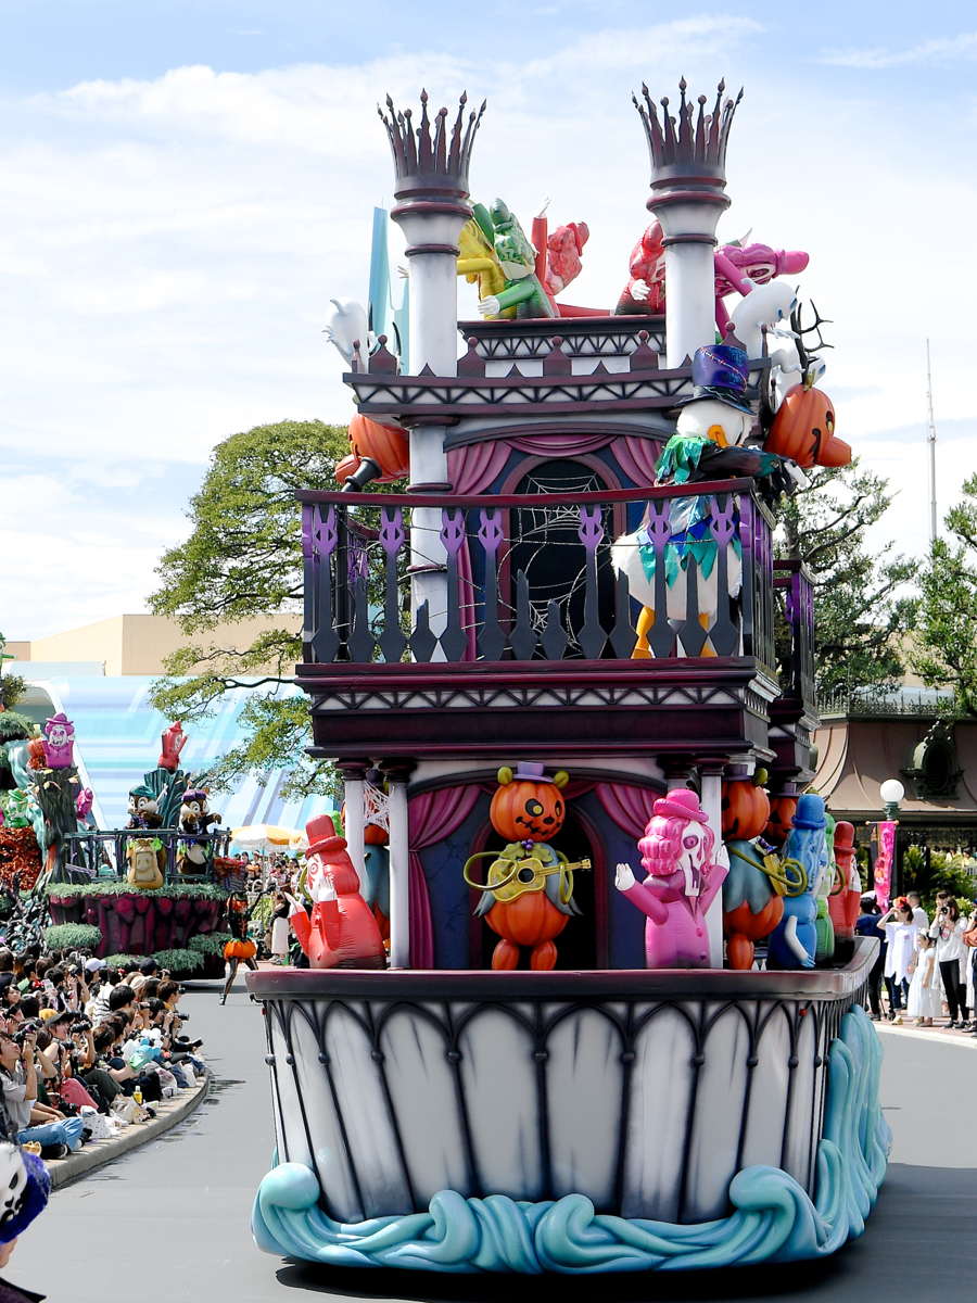
<svg viewBox="0 0 977 1303"><path fill-rule="evenodd" d="M305 886L311 919L293 896L289 923L313 968L386 968L380 929L360 894L360 878L328 814L306 825Z"/></svg>

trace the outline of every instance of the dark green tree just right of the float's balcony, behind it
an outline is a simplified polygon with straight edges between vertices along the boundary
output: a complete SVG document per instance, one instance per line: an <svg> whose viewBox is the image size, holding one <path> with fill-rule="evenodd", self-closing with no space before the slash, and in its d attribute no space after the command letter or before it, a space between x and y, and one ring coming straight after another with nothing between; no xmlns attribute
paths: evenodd
<svg viewBox="0 0 977 1303"><path fill-rule="evenodd" d="M900 642L916 601L900 593L916 564L892 543L871 551L869 526L892 503L888 481L849 466L815 468L780 508L778 558L802 560L814 580L815 674L822 697L892 687L903 674Z"/></svg>

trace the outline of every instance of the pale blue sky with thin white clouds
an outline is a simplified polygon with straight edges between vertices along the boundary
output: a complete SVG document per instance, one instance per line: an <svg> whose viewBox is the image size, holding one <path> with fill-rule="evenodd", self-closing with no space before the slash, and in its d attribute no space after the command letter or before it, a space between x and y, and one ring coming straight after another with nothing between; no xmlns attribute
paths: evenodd
<svg viewBox="0 0 977 1303"><path fill-rule="evenodd" d="M593 305L647 220L630 90L744 85L720 235L810 253L839 434L899 489L881 532L921 551L927 336L941 506L977 470L977 10L654 13L0 0L0 629L141 610L219 439L348 418L322 322L365 297L389 199L375 103L422 85L488 99L477 198L589 223L571 298Z"/></svg>

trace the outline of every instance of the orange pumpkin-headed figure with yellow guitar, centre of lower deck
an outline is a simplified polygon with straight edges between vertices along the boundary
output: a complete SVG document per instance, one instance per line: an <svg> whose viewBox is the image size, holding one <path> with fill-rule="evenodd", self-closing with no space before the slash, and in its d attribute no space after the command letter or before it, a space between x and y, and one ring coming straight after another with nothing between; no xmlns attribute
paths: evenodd
<svg viewBox="0 0 977 1303"><path fill-rule="evenodd" d="M492 827L507 842L521 843L526 852L546 864L555 864L558 852L546 844L546 839L563 827L567 803L560 790L568 782L569 775L563 771L547 779L542 765L521 762L515 774L508 767L500 769L500 786L488 810ZM492 951L492 968L515 968L520 946L530 947L529 964L534 971L547 972L556 964L554 938L580 909L573 903L572 886L569 894L561 891L565 882L563 873L547 874L543 881L542 890L528 890L509 900L499 900L491 891L483 893L475 915L485 917L492 932L502 937Z"/></svg>

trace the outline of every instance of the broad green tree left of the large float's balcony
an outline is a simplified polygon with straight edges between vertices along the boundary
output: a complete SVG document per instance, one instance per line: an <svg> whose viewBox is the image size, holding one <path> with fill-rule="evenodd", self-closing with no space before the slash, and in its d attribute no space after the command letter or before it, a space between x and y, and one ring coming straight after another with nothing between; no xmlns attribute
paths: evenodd
<svg viewBox="0 0 977 1303"><path fill-rule="evenodd" d="M301 614L302 523L294 495L336 489L336 463L348 451L345 426L322 421L279 421L224 439L190 499L189 538L156 567L160 586L150 610L177 620L188 641L165 659L152 705L191 722L207 718L231 688L257 689L241 714L245 741L208 774L215 787L284 769L285 797L335 795L332 766L304 752L311 741L306 697L283 693L302 657L294 620L283 619L245 648L221 646L207 635L218 624Z"/></svg>

